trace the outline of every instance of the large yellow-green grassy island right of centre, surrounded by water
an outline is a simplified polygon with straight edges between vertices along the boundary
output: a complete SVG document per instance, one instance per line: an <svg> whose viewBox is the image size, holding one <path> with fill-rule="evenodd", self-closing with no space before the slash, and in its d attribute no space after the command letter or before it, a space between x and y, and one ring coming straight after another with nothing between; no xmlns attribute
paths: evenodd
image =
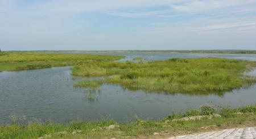
<svg viewBox="0 0 256 139"><path fill-rule="evenodd" d="M175 58L146 63L86 63L73 67L72 74L106 76L106 83L120 84L131 90L169 93L222 92L255 83L255 78L243 75L243 72L254 67L256 62L245 60Z"/></svg>

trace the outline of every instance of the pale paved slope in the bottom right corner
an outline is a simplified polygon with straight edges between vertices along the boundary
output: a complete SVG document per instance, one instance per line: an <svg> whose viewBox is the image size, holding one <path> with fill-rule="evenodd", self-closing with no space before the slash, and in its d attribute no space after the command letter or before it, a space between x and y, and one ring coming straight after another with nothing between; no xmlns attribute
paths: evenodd
<svg viewBox="0 0 256 139"><path fill-rule="evenodd" d="M223 131L216 131L216 132L207 132L201 134L189 134L185 136L177 136L171 137L169 139L187 139L187 138L196 138L196 139L207 139L207 138L226 138L226 139L233 139L233 138L241 138L241 139L256 139L256 127L249 127L249 128L236 128L236 129L226 129Z"/></svg>

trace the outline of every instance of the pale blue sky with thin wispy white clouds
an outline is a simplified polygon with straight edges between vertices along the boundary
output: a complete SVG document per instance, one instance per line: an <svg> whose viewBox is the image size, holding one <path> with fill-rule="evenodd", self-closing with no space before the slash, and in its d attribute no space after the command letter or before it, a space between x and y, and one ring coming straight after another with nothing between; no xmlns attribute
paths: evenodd
<svg viewBox="0 0 256 139"><path fill-rule="evenodd" d="M256 0L0 0L1 50L256 50Z"/></svg>

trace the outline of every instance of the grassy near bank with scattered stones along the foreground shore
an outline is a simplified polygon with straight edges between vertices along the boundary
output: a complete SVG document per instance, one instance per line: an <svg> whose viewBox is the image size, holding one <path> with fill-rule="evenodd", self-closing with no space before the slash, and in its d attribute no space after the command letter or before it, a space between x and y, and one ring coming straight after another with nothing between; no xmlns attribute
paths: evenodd
<svg viewBox="0 0 256 139"><path fill-rule="evenodd" d="M70 124L32 123L28 125L19 125L14 122L11 125L0 126L0 138L148 138L153 136L154 132L162 134L162 137L171 137L179 134L256 125L256 106L236 109L222 108L217 112L220 116L212 116L212 119L208 117L197 120L181 119L204 113L211 115L212 112L216 113L212 111L213 109L191 110L196 112L189 111L184 114L171 115L160 121L137 119L128 124L118 124L108 120L91 123L76 121Z"/></svg>

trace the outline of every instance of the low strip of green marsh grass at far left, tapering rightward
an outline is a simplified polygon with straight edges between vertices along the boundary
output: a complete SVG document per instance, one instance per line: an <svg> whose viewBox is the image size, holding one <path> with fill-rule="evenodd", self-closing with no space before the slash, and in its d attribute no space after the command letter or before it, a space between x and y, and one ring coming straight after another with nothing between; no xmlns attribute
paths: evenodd
<svg viewBox="0 0 256 139"><path fill-rule="evenodd" d="M49 67L107 62L123 58L114 55L69 55L36 52L0 53L0 71L21 71Z"/></svg>

